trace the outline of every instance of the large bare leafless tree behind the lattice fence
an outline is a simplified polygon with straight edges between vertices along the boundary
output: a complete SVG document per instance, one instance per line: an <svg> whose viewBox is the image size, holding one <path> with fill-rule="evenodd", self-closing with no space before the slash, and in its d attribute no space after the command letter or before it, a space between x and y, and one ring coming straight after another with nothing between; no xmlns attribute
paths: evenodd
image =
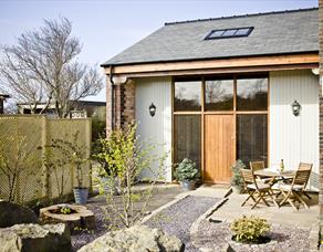
<svg viewBox="0 0 323 252"><path fill-rule="evenodd" d="M54 104L56 115L67 117L75 101L103 87L98 69L77 61L81 50L70 20L44 20L43 27L0 51L0 90L28 104L32 114L44 103L40 114Z"/></svg>

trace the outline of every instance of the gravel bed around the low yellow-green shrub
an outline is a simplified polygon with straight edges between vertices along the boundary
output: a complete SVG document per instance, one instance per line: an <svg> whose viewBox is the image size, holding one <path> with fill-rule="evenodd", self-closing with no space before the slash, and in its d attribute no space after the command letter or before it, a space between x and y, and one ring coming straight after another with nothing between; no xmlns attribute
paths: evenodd
<svg viewBox="0 0 323 252"><path fill-rule="evenodd" d="M308 252L310 251L309 235L310 229L300 229L272 224L269 237L271 242L260 245L248 245L231 241L231 232L228 222L210 222L204 220L199 224L194 242L199 248L209 248L211 251L222 251L230 243L237 252Z"/></svg>

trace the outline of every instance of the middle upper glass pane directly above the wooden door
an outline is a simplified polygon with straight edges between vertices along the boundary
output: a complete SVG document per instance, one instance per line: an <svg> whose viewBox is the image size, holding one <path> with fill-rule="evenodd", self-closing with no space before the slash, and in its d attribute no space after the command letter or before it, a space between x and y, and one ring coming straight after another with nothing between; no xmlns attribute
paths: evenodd
<svg viewBox="0 0 323 252"><path fill-rule="evenodd" d="M233 81L206 81L205 87L206 111L233 109Z"/></svg>

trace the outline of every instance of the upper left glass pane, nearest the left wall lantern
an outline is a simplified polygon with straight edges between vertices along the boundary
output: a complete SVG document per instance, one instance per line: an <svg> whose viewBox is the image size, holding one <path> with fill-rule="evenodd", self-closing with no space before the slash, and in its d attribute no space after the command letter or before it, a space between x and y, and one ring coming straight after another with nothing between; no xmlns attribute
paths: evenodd
<svg viewBox="0 0 323 252"><path fill-rule="evenodd" d="M174 109L196 112L201 109L201 82L175 82Z"/></svg>

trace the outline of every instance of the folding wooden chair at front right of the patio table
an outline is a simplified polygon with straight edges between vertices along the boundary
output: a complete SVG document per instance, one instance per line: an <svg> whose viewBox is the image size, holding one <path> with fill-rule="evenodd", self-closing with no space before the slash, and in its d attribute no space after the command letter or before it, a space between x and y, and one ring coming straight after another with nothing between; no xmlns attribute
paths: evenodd
<svg viewBox="0 0 323 252"><path fill-rule="evenodd" d="M301 167L301 166L300 166ZM296 170L292 183L281 183L279 185L279 189L281 193L284 196L283 200L280 202L279 206L282 206L286 201L295 209L296 206L294 204L295 201L299 203L303 203L305 208L310 208L306 202L302 199L302 196L310 196L306 195L304 191L308 185L308 181L311 176L312 166L302 166L300 169Z"/></svg>

